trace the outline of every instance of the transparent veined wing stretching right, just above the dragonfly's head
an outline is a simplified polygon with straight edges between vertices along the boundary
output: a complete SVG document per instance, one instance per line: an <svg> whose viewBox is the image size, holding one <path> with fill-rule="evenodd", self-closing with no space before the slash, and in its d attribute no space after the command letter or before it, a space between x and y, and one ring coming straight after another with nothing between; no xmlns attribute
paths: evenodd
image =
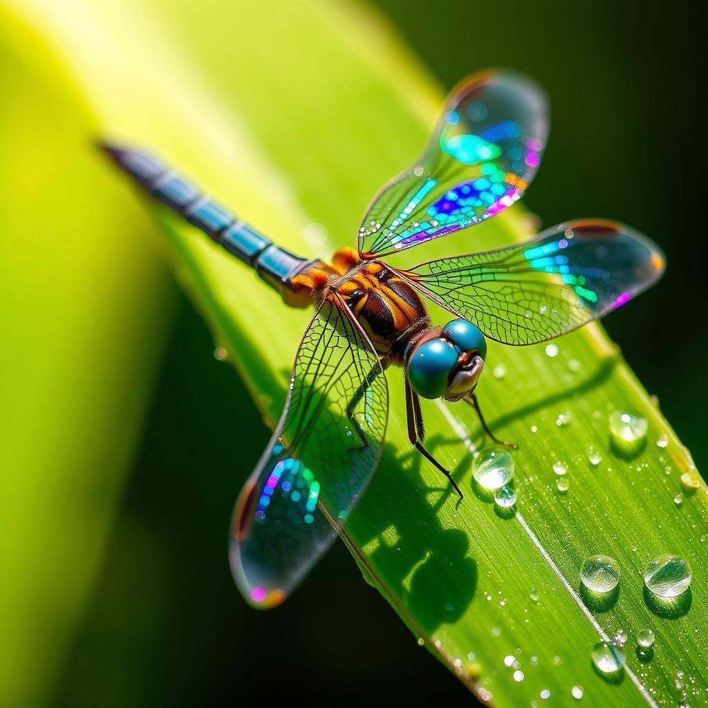
<svg viewBox="0 0 708 708"><path fill-rule="evenodd" d="M580 219L522 244L421 263L411 285L505 344L583 326L661 278L661 249L623 224Z"/></svg>

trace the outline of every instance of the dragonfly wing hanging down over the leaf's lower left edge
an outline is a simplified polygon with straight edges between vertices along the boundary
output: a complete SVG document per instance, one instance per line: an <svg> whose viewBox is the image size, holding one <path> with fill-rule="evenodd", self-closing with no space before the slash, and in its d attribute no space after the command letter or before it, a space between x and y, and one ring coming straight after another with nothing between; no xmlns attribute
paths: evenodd
<svg viewBox="0 0 708 708"><path fill-rule="evenodd" d="M300 343L278 428L234 509L229 560L251 604L281 603L329 548L377 467L387 416L377 353L346 304L326 300Z"/></svg>

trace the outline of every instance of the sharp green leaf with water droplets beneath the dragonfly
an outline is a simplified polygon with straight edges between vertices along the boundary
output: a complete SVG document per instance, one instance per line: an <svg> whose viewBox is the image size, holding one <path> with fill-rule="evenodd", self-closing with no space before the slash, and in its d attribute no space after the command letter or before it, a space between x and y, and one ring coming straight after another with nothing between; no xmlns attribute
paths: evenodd
<svg viewBox="0 0 708 708"><path fill-rule="evenodd" d="M152 147L240 217L307 256L353 243L367 202L418 155L442 98L389 29L358 6L282 1L215 5L207 13L166 0L148 10L132 0L99 13L78 1L61 11L35 4L109 137ZM124 191L132 203L127 185ZM156 214L185 287L275 420L309 313L287 310L195 229ZM313 223L326 228L324 243L308 241ZM531 232L532 219L515 207L400 262L491 248ZM346 542L413 635L496 705L539 701L543 691L569 704L574 686L593 705L675 704L683 691L700 700L693 694L708 678L707 490L701 483L675 505L690 457L598 326L557 347L552 356L543 346L491 344L490 369L505 367L506 375L488 372L479 388L491 426L520 444L516 515L505 518L472 491L472 451L482 438L469 410L429 404L430 447L467 490L457 505L445 480L410 450L401 377L391 372L384 457ZM609 444L610 410L649 421L646 445L632 459ZM566 411L571 421L557 425ZM660 435L667 447L655 444ZM603 457L596 467L590 445ZM566 494L556 490L558 460L569 467ZM583 559L597 553L615 557L621 570L619 598L605 611L588 607L579 591ZM660 553L692 564L690 607L647 603L644 569ZM656 634L649 663L634 653L634 636L645 627ZM610 683L593 670L590 651L601 634L620 628L630 635L627 672ZM506 656L518 668L507 667Z"/></svg>

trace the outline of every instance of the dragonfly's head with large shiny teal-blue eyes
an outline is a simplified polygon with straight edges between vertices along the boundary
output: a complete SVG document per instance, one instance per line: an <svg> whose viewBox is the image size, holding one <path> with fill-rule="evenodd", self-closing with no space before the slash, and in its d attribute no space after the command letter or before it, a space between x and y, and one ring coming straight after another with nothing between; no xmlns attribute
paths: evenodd
<svg viewBox="0 0 708 708"><path fill-rule="evenodd" d="M484 334L467 320L455 319L413 343L406 374L419 396L459 401L476 387L485 357Z"/></svg>

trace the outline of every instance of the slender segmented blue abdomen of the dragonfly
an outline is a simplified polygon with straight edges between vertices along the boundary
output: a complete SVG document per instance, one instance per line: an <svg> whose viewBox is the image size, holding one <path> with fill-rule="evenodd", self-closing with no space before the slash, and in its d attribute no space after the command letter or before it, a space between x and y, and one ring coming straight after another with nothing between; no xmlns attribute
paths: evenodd
<svg viewBox="0 0 708 708"><path fill-rule="evenodd" d="M292 307L310 304L309 294L293 290L291 280L314 261L276 246L155 156L111 144L104 143L102 147L145 192L187 219L243 263L255 268L287 304Z"/></svg>

